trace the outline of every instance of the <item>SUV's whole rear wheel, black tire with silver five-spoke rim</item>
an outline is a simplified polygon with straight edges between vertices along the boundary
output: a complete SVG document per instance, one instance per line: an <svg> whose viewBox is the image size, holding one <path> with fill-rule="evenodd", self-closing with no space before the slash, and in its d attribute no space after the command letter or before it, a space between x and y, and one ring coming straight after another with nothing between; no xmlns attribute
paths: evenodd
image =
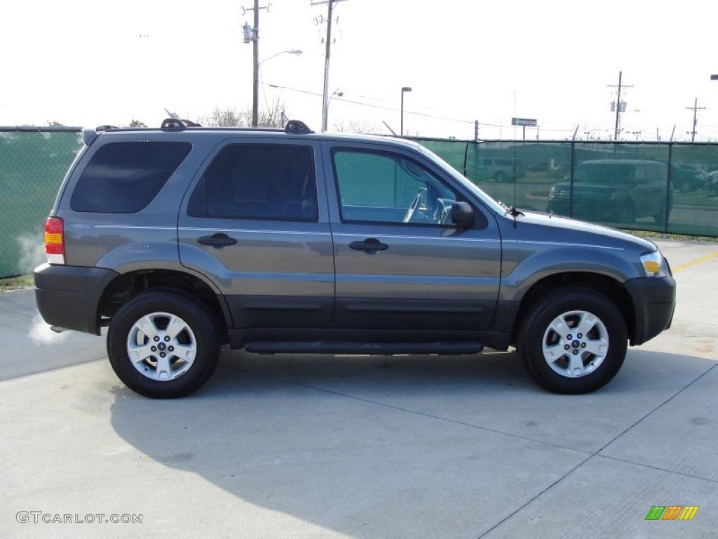
<svg viewBox="0 0 718 539"><path fill-rule="evenodd" d="M114 315L112 368L131 390L155 398L188 395L213 373L219 339L209 313L185 295L143 292Z"/></svg>

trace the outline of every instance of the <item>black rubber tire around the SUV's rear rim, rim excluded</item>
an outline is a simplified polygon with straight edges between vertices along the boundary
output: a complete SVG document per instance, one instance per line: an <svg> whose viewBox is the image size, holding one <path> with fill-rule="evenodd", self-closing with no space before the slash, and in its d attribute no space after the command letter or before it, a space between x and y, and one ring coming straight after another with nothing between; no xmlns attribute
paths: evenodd
<svg viewBox="0 0 718 539"><path fill-rule="evenodd" d="M189 369L170 380L150 379L132 364L127 339L132 326L150 313L177 315L194 333L197 352ZM110 364L121 381L134 392L157 399L184 397L207 382L217 366L220 344L210 313L190 297L177 292L150 290L132 298L113 316L107 334Z"/></svg>

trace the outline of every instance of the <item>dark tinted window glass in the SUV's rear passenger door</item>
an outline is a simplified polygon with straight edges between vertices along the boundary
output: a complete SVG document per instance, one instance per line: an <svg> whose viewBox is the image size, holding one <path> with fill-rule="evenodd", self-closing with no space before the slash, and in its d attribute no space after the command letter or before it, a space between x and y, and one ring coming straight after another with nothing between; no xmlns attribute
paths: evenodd
<svg viewBox="0 0 718 539"><path fill-rule="evenodd" d="M195 217L317 221L312 149L230 144L205 170L187 213Z"/></svg>

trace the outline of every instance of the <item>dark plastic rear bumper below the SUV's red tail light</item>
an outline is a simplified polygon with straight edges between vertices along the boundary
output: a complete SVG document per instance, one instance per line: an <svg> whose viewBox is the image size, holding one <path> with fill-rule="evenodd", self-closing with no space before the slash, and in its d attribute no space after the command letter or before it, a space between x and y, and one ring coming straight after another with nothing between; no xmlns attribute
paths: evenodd
<svg viewBox="0 0 718 539"><path fill-rule="evenodd" d="M100 334L98 304L117 272L102 267L42 264L34 274L35 301L45 322Z"/></svg>

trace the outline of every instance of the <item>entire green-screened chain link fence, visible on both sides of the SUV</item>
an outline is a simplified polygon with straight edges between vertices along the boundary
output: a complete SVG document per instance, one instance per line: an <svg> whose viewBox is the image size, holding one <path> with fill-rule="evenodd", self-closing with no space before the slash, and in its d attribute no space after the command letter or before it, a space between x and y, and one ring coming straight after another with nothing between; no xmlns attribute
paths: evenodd
<svg viewBox="0 0 718 539"><path fill-rule="evenodd" d="M718 144L414 138L518 208L624 229L718 237ZM0 127L0 277L42 262L42 232L79 128Z"/></svg>

